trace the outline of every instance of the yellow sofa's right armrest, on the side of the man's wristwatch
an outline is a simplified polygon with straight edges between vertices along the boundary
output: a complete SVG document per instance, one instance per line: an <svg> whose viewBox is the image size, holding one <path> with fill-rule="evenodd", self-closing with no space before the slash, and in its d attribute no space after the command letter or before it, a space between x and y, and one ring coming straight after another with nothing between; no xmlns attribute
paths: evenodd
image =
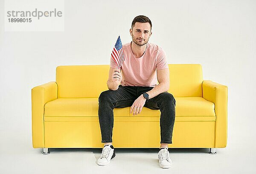
<svg viewBox="0 0 256 174"><path fill-rule="evenodd" d="M215 148L227 146L227 86L204 80L203 98L215 104Z"/></svg>

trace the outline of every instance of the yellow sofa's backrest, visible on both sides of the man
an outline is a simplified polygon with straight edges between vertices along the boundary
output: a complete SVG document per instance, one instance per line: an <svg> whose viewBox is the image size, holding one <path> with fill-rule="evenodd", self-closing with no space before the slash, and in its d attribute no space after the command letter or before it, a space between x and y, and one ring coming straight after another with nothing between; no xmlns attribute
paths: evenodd
<svg viewBox="0 0 256 174"><path fill-rule="evenodd" d="M56 68L58 98L93 98L108 90L109 65L67 65ZM169 64L170 89L175 97L202 97L201 64Z"/></svg>

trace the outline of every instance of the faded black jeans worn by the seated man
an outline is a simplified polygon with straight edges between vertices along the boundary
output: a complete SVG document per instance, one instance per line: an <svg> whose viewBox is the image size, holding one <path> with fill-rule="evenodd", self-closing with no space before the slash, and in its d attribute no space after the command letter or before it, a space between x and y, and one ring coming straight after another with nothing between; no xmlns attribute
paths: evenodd
<svg viewBox="0 0 256 174"><path fill-rule="evenodd" d="M113 109L114 107L130 107L141 94L150 91L153 87L137 87L119 85L117 90L107 90L99 96L99 124L102 143L112 142ZM168 92L148 99L144 107L160 109L160 143L172 144L172 131L175 122L176 101Z"/></svg>

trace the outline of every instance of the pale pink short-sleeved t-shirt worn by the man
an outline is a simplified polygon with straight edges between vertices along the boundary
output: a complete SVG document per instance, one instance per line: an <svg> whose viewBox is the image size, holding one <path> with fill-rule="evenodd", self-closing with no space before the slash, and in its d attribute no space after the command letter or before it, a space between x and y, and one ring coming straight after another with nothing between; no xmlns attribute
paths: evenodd
<svg viewBox="0 0 256 174"><path fill-rule="evenodd" d="M125 61L121 67L122 86L155 87L157 85L157 71L169 68L166 53L156 44L149 43L144 54L135 58L131 43L123 44ZM117 69L117 64L111 56L110 67Z"/></svg>

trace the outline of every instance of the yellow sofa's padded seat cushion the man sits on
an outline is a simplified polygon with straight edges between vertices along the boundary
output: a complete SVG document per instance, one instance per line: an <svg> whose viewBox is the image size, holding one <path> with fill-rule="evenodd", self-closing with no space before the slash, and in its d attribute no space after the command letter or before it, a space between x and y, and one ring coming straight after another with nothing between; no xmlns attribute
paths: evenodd
<svg viewBox="0 0 256 174"><path fill-rule="evenodd" d="M176 118L180 117L184 121L192 118L197 121L209 121L209 118L212 121L215 120L214 103L202 97L175 97L175 100ZM45 104L44 116L48 117L48 121L50 121L49 117L57 117L57 119L58 117L67 117L66 121L75 117L98 117L98 107L98 98L58 98ZM129 111L130 107L114 108L113 110L115 117L141 117L143 119L143 117L160 117L161 114L160 110L146 107L143 107L142 112L138 115L133 115Z"/></svg>

